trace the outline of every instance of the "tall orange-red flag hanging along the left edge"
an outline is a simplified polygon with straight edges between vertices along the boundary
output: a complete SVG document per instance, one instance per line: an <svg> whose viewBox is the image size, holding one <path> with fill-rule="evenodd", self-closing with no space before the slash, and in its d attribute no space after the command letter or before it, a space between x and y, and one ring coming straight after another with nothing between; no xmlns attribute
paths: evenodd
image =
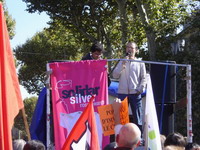
<svg viewBox="0 0 200 150"><path fill-rule="evenodd" d="M23 107L3 6L0 3L0 150L12 150L11 129L14 118Z"/></svg>

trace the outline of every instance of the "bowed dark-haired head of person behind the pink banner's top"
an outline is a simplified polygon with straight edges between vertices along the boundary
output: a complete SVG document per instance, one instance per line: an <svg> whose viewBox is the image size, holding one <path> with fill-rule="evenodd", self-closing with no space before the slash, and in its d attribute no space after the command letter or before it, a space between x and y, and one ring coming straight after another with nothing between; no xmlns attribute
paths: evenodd
<svg viewBox="0 0 200 150"><path fill-rule="evenodd" d="M99 42L93 43L90 48L90 52L92 54L93 59L95 59L95 60L100 59L101 55L103 53L103 45Z"/></svg>

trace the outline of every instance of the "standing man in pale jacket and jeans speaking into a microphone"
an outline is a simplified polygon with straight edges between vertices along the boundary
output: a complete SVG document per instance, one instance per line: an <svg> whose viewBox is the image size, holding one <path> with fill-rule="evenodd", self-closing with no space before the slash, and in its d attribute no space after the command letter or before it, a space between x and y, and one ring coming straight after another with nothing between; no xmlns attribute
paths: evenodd
<svg viewBox="0 0 200 150"><path fill-rule="evenodd" d="M142 131L142 97L146 87L146 68L144 63L131 61L138 60L137 44L129 42L126 45L127 61L120 61L113 71L113 77L119 79L118 98L128 97L131 106L133 123ZM129 60L129 61L128 61Z"/></svg>

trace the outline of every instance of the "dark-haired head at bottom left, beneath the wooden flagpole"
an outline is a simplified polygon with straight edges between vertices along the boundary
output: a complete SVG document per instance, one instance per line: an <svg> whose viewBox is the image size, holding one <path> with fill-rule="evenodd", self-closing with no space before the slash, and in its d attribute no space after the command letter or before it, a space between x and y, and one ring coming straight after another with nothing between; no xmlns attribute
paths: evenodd
<svg viewBox="0 0 200 150"><path fill-rule="evenodd" d="M38 140L30 140L24 145L23 150L45 150L45 146Z"/></svg>

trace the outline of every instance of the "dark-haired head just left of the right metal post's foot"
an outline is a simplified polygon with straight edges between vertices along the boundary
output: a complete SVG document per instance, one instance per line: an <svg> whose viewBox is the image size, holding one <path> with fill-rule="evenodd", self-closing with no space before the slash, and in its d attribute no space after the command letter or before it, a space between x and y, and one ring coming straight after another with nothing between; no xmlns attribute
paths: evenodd
<svg viewBox="0 0 200 150"><path fill-rule="evenodd" d="M167 136L164 146L175 145L185 147L186 141L180 133L171 133Z"/></svg>

